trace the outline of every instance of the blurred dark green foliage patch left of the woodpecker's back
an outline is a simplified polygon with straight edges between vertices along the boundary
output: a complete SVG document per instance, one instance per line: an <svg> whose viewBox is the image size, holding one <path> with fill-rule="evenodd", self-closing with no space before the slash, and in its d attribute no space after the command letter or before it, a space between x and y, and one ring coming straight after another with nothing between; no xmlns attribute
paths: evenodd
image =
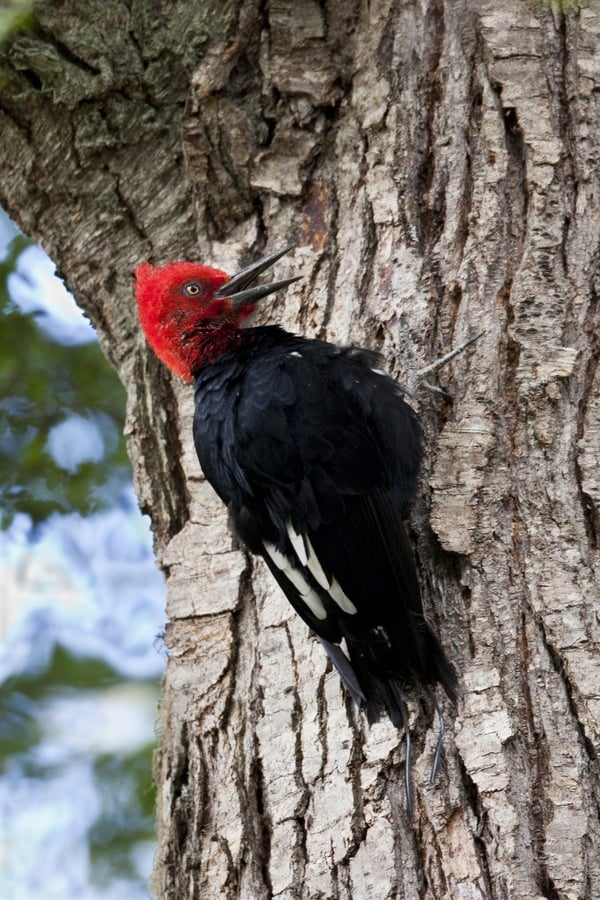
<svg viewBox="0 0 600 900"><path fill-rule="evenodd" d="M122 436L125 392L98 344L63 346L12 303L7 288L26 238L0 262L0 527L18 512L96 512L114 503L131 471ZM52 429L79 415L98 431L100 461L67 471L51 456ZM101 446L100 446L101 444Z"/></svg>

